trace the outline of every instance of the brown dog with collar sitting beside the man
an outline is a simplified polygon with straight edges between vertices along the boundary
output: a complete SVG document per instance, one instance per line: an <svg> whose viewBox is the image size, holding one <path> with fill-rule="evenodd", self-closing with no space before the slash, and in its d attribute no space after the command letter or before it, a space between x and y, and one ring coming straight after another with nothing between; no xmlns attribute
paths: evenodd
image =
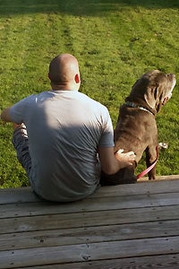
<svg viewBox="0 0 179 269"><path fill-rule="evenodd" d="M135 183L134 170L146 153L149 167L157 159L158 128L156 115L172 96L175 87L175 74L164 74L158 70L143 74L134 83L130 95L120 107L115 127L115 152L135 152L136 161L131 167L120 169L115 175L101 173L101 185ZM149 179L155 179L156 168L148 173Z"/></svg>

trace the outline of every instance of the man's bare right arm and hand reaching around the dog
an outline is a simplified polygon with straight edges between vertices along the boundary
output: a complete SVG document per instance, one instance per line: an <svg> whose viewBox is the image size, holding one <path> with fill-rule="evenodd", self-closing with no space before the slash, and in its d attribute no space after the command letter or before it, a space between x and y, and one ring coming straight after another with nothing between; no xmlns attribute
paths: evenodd
<svg viewBox="0 0 179 269"><path fill-rule="evenodd" d="M123 169L135 161L134 152L122 153L119 150L114 153L114 148L98 148L98 157L101 164L101 169L108 175L115 174L119 169Z"/></svg>

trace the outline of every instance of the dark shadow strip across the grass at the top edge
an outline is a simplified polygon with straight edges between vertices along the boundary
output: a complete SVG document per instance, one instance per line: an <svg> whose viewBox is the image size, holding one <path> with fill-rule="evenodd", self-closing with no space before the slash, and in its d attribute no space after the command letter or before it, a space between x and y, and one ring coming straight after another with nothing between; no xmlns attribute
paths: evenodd
<svg viewBox="0 0 179 269"><path fill-rule="evenodd" d="M149 9L177 8L179 0L0 0L0 15L64 13L75 16L100 16L125 6L143 6Z"/></svg>

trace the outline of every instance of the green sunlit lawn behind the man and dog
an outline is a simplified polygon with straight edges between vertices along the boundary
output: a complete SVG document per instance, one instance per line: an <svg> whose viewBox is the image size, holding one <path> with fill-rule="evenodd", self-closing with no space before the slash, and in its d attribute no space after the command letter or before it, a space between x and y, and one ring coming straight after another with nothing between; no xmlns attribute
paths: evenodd
<svg viewBox="0 0 179 269"><path fill-rule="evenodd" d="M141 74L179 72L179 1L0 0L0 110L49 89L49 61L76 56L81 91L105 104L114 126L119 105ZM158 114L157 174L178 173L178 85ZM11 143L12 126L0 126L0 186L28 185ZM143 158L144 159L144 158ZM145 168L144 160L138 169Z"/></svg>

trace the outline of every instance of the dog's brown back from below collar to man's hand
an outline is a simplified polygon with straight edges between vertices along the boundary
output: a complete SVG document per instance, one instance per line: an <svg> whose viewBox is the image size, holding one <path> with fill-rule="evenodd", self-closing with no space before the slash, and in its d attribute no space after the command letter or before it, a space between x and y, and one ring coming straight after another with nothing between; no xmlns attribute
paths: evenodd
<svg viewBox="0 0 179 269"><path fill-rule="evenodd" d="M136 166L149 144L158 143L158 130L153 114L148 111L122 105L115 126L115 152L135 152Z"/></svg>

